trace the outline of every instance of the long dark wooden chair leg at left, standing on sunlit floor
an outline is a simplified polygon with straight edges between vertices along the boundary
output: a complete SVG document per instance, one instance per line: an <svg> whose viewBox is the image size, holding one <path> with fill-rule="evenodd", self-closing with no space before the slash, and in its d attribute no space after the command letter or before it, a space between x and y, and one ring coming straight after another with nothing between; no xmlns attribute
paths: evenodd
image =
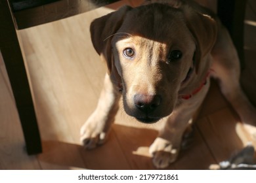
<svg viewBox="0 0 256 183"><path fill-rule="evenodd" d="M11 82L28 154L38 154L41 139L26 69L7 0L0 0L0 50Z"/></svg>

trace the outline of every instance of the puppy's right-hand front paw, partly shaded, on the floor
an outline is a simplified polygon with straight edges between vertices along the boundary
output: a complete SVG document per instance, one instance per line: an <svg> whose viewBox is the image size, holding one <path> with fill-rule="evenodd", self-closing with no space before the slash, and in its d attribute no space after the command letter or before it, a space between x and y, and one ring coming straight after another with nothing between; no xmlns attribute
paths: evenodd
<svg viewBox="0 0 256 183"><path fill-rule="evenodd" d="M158 137L150 146L149 152L156 168L164 169L177 159L179 146L175 147L170 141Z"/></svg>

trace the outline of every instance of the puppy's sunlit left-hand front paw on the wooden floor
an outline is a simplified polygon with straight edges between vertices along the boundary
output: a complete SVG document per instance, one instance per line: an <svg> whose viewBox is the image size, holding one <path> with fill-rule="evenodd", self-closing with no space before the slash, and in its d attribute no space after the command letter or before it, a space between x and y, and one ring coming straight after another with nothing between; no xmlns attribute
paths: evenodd
<svg viewBox="0 0 256 183"><path fill-rule="evenodd" d="M80 141L86 149L91 150L106 141L107 132L106 122L92 114L81 127Z"/></svg>

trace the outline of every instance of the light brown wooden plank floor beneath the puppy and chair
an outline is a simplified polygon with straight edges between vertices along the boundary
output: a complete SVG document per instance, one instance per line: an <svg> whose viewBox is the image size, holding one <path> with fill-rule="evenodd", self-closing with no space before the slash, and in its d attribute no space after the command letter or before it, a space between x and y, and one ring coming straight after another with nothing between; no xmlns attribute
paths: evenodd
<svg viewBox="0 0 256 183"><path fill-rule="evenodd" d="M108 142L86 151L79 129L96 107L106 68L91 44L89 24L123 3L18 31L33 89L43 153L28 156L11 87L0 58L0 169L154 169L148 146L158 125L142 125L119 111ZM210 5L208 1L200 1ZM211 1L213 2L213 1ZM245 24L242 86L256 104L256 3ZM215 7L212 7L215 9ZM208 169L243 146L239 118L213 82L195 125L194 143L167 169ZM246 135L246 134L244 134Z"/></svg>

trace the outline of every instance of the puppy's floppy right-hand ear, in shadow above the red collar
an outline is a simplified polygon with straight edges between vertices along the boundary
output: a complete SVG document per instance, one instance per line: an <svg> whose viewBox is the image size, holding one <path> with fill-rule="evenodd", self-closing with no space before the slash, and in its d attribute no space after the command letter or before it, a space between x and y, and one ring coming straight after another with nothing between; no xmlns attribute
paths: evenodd
<svg viewBox="0 0 256 183"><path fill-rule="evenodd" d="M217 24L208 14L196 12L189 6L184 6L184 16L186 25L194 36L196 41L196 52L194 54L194 63L196 73L200 67L200 61L213 48L217 37Z"/></svg>

